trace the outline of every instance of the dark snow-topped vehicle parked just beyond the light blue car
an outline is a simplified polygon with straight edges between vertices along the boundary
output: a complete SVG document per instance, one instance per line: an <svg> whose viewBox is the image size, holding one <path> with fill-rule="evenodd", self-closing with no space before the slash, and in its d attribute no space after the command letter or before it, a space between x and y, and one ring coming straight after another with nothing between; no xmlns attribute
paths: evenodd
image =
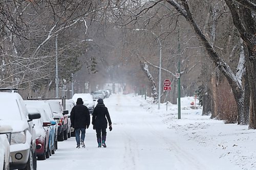
<svg viewBox="0 0 256 170"><path fill-rule="evenodd" d="M68 139L68 111L63 110L61 101L47 100L55 117L58 117L57 140L63 141Z"/></svg>

